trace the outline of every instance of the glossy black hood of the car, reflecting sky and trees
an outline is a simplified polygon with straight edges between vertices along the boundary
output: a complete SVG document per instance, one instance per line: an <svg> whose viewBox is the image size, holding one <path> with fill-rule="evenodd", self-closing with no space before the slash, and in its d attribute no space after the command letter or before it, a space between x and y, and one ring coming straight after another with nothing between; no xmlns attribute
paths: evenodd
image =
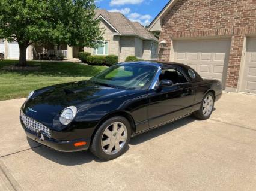
<svg viewBox="0 0 256 191"><path fill-rule="evenodd" d="M100 86L91 81L58 84L36 90L34 95L22 106L26 116L52 127L54 121L59 121L61 111L71 105L78 107L85 102L102 98L103 96L118 95L124 90Z"/></svg>

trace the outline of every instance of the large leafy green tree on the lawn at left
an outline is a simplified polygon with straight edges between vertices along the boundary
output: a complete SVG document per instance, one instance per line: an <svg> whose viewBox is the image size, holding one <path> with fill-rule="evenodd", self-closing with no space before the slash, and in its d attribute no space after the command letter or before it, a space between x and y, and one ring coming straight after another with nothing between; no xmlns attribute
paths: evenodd
<svg viewBox="0 0 256 191"><path fill-rule="evenodd" d="M96 48L102 30L94 0L1 0L0 39L17 41L19 65L33 43Z"/></svg>

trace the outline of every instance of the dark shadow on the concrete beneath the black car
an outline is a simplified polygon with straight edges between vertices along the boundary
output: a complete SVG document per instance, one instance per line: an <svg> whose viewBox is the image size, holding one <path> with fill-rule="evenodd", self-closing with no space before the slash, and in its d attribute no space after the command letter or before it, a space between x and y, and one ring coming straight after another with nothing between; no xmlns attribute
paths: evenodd
<svg viewBox="0 0 256 191"><path fill-rule="evenodd" d="M130 140L130 144L138 145L138 144L144 143L145 141L148 141L159 135L163 135L174 129L181 128L182 126L185 126L191 122L194 122L194 120L195 120L194 117L185 117L175 122L163 125L162 127L152 129L149 132L133 137ZM32 151L34 151L37 154L40 154L41 156L45 157L48 160L51 160L52 162L59 163L60 165L76 166L76 165L82 165L85 163L90 163L93 160L96 162L105 162L103 160L98 159L93 154L91 154L89 150L79 151L75 153L62 153L44 146L33 148L32 145L34 141L30 140L29 138L28 138L28 143L31 146ZM127 147L126 151L127 150L129 150L129 146Z"/></svg>

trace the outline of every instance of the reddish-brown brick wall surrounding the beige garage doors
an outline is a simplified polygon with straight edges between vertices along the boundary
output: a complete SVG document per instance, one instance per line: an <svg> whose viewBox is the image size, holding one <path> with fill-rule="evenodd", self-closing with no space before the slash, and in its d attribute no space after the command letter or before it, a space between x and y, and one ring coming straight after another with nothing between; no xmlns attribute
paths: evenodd
<svg viewBox="0 0 256 191"><path fill-rule="evenodd" d="M172 38L230 37L227 87L236 88L247 34L256 34L256 0L179 0L162 19L166 49L159 50L159 60L172 56Z"/></svg>

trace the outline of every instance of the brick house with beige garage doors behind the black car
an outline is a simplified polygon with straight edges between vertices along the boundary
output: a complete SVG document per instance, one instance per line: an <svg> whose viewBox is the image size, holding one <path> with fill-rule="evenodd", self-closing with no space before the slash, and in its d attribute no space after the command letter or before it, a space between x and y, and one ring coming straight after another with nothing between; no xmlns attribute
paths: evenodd
<svg viewBox="0 0 256 191"><path fill-rule="evenodd" d="M159 60L186 63L224 89L256 93L256 1L172 0L148 27Z"/></svg>

